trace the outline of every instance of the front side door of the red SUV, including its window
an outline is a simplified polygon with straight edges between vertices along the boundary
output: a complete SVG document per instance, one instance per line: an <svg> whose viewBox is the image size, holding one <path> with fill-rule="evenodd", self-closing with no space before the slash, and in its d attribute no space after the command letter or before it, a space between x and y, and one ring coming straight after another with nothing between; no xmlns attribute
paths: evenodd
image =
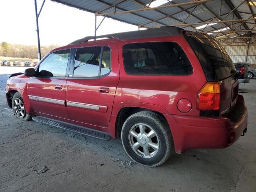
<svg viewBox="0 0 256 192"><path fill-rule="evenodd" d="M31 111L70 119L65 106L69 55L70 49L59 50L40 62L37 77L28 81Z"/></svg>

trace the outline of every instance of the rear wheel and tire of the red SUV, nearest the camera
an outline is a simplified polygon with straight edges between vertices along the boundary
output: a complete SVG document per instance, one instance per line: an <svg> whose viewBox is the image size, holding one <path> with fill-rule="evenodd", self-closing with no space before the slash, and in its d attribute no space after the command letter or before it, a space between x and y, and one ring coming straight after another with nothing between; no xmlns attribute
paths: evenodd
<svg viewBox="0 0 256 192"><path fill-rule="evenodd" d="M170 128L155 112L142 111L128 117L121 138L128 156L144 166L159 166L174 151Z"/></svg>

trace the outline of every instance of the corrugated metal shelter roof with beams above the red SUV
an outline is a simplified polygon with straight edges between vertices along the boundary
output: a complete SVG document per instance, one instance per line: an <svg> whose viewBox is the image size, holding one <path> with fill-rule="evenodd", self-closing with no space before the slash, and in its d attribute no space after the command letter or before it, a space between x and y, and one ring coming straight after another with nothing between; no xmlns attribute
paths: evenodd
<svg viewBox="0 0 256 192"><path fill-rule="evenodd" d="M117 4L116 9L112 7L100 12L100 13L110 13L110 12L114 13L114 10L116 10L116 12L120 12L124 10L142 9L151 0L126 0L124 2L122 2L121 0L86 0L86 1L84 0L52 0L52 1L60 2L68 6L72 6L72 7L79 8L81 10L86 10L93 13L99 12L101 10L108 8L111 5ZM169 3L166 3L164 5L180 4L185 2L191 3L190 0L172 0ZM230 0L230 2L232 4L231 6L236 7L239 4L241 4L242 1ZM192 12L190 16L188 16L195 6L197 6L195 10ZM160 8L158 10L146 10L142 12L134 12L134 13L126 13L126 14L110 14L110 15L107 15L107 17L120 20L122 22L134 24L134 25L140 25L140 26L141 25L155 26L156 25L155 22L152 22L155 20L157 21L159 20L157 22L157 26L174 25L174 24L182 23L187 16L188 18L186 19L185 23L196 23L196 22L202 22L202 21L209 22L212 20L213 17L217 19L216 16L219 15L219 8L220 8L220 0L218 1L212 0L209 2L205 2L203 4L197 4L197 5L190 4L185 6ZM251 6L251 8L256 12L255 6ZM225 17L225 20L232 20L233 18L238 19L236 15L233 13L226 16L226 14L228 14L231 10L232 10L232 7L230 7L226 1L222 0L220 18ZM237 11L238 11L238 14L240 14L240 17L243 19L250 17L250 14L246 14L246 13L250 13L250 9L246 2L244 2L240 7L238 7ZM239 11L242 11L244 13L239 13ZM173 17L176 21L166 17L166 15ZM254 21L244 22L244 24L242 24L240 28L238 26L241 24L241 22L234 22L233 24L231 22L228 22L225 24L216 24L213 26L208 26L204 31L210 32L216 29L224 28L225 26L226 27L229 26L231 28L231 24L232 24L232 29L235 29L238 27L236 30L243 30L245 29L245 26L244 26L245 24L246 24L246 27L248 28L254 28L255 27L254 23L255 23ZM194 26L182 26L182 27L186 29L190 28L191 30L195 30L194 27L196 26L200 26L200 24L194 25ZM215 34L213 36L215 36Z"/></svg>

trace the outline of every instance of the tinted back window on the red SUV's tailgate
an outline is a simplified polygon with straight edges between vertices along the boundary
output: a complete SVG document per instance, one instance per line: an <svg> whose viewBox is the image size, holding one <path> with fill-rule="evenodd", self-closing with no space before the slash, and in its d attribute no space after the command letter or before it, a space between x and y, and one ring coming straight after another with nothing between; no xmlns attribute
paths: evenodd
<svg viewBox="0 0 256 192"><path fill-rule="evenodd" d="M208 81L226 79L236 68L224 48L208 35L187 32L186 39L194 49Z"/></svg>

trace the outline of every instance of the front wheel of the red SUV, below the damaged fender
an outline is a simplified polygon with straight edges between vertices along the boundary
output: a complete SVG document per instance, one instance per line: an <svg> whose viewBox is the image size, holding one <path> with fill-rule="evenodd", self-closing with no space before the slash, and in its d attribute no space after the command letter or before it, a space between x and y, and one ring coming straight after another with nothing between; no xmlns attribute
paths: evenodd
<svg viewBox="0 0 256 192"><path fill-rule="evenodd" d="M16 118L24 121L32 120L32 116L26 112L22 96L19 92L16 92L12 97L12 110Z"/></svg>

